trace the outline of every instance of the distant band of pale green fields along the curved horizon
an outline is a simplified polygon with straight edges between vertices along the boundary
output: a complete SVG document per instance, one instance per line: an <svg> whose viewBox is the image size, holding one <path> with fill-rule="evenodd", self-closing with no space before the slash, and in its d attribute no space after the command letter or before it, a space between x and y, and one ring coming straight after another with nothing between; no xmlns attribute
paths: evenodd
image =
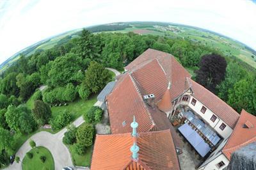
<svg viewBox="0 0 256 170"><path fill-rule="evenodd" d="M241 59L248 65L256 68L256 52L255 50L247 47L241 42L237 42L232 38L201 29L198 27L184 26L180 24L165 23L165 22L118 22L113 24L104 24L99 26L87 27L86 29L93 33L108 31L108 32L120 32L128 33L134 32L140 35L159 35L168 36L169 38L186 38L193 42L202 43L208 47L214 47L214 49L221 51L225 56L236 57ZM60 45L65 43L71 38L76 37L81 33L82 29L76 29L62 33L60 35L52 36L46 40L35 43L27 47L26 49L20 50L9 59L4 61L0 65L0 72L3 72L8 66L12 65L20 54L29 56L35 53L36 50L47 50L54 47L54 45Z"/></svg>

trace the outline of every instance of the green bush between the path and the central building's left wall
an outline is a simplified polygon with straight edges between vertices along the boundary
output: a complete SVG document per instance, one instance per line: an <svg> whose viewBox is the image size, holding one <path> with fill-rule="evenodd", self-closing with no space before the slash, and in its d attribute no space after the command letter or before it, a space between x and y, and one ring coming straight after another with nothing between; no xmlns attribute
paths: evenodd
<svg viewBox="0 0 256 170"><path fill-rule="evenodd" d="M98 123L101 120L102 109L97 106L93 106L88 112L84 113L84 120L86 123Z"/></svg>

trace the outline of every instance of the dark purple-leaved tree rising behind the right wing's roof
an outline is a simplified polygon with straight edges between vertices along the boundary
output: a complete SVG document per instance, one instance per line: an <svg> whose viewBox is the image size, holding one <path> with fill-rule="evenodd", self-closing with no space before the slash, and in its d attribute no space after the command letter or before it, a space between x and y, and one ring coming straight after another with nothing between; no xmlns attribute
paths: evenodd
<svg viewBox="0 0 256 170"><path fill-rule="evenodd" d="M218 54L209 54L202 57L200 68L196 71L196 81L213 93L216 86L225 79L227 61Z"/></svg>

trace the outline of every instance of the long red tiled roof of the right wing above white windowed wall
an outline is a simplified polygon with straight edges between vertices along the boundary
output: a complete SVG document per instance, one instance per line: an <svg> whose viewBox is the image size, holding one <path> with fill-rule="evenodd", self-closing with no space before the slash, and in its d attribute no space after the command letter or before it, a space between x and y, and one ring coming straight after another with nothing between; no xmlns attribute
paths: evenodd
<svg viewBox="0 0 256 170"><path fill-rule="evenodd" d="M204 88L197 82L188 78L190 86L193 90L193 95L198 99L202 104L208 107L212 112L221 118L227 125L234 129L236 126L237 120L239 119L239 114L232 107L226 104L219 97L214 95L211 91Z"/></svg>

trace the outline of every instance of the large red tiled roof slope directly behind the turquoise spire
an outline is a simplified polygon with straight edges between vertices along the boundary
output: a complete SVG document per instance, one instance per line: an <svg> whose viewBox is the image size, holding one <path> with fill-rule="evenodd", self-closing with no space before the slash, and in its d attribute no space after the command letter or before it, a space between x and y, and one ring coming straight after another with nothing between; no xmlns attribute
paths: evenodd
<svg viewBox="0 0 256 170"><path fill-rule="evenodd" d="M122 79L116 82L112 93L108 95L108 112L112 134L131 132L130 123L135 115L140 127L138 132L148 132L153 121L138 89L132 82L131 75L125 73ZM122 123L125 123L123 126Z"/></svg>

